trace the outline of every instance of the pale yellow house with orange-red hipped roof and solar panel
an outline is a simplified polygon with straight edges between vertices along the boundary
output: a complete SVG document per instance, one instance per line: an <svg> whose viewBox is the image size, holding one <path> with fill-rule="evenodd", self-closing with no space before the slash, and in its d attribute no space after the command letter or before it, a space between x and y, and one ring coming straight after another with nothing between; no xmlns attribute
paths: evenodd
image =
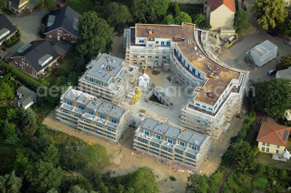
<svg viewBox="0 0 291 193"><path fill-rule="evenodd" d="M257 137L260 152L283 154L291 127L262 122Z"/></svg>

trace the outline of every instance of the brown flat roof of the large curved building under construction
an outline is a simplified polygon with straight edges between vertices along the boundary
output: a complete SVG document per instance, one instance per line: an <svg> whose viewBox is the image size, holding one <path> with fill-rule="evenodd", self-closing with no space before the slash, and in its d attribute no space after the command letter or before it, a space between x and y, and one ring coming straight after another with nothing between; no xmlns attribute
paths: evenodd
<svg viewBox="0 0 291 193"><path fill-rule="evenodd" d="M148 28L152 28L152 34L148 33ZM241 72L226 68L205 54L198 42L201 31L195 30L195 24L183 23L182 26L136 24L135 29L131 29L130 45L135 45L135 37L132 37L134 32L135 37L147 38L147 41L155 41L155 38L170 38L171 42L177 44L182 55L189 63L205 73L207 81L202 86L201 91L197 92L194 98L196 101L214 106L231 80L239 79L241 75ZM181 41L182 38L185 41ZM214 93L215 88L219 88L216 89L217 95L214 95L213 98L207 97L206 91Z"/></svg>

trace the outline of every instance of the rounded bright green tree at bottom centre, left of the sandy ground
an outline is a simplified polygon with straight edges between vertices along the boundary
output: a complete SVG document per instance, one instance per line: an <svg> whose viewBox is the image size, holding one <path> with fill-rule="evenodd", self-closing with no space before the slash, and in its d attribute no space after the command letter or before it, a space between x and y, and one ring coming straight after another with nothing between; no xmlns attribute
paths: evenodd
<svg viewBox="0 0 291 193"><path fill-rule="evenodd" d="M134 192L155 193L160 192L152 170L141 167L128 177L128 188L133 188Z"/></svg>

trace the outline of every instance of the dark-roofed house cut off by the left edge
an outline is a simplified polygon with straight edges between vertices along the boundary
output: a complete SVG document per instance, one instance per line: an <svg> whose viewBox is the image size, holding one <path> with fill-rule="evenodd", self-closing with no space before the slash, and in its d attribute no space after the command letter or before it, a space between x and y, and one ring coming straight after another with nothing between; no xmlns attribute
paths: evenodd
<svg viewBox="0 0 291 193"><path fill-rule="evenodd" d="M17 29L9 21L5 14L0 14L0 45L2 45L6 38L11 38Z"/></svg>

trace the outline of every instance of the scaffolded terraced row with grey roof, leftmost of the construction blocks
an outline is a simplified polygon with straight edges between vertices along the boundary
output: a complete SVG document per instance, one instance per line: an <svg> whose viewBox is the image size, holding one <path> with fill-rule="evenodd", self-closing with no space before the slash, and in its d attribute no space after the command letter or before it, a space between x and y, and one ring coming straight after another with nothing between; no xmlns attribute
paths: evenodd
<svg viewBox="0 0 291 193"><path fill-rule="evenodd" d="M56 120L98 138L117 143L128 128L132 112L101 101L70 86L56 107Z"/></svg>

